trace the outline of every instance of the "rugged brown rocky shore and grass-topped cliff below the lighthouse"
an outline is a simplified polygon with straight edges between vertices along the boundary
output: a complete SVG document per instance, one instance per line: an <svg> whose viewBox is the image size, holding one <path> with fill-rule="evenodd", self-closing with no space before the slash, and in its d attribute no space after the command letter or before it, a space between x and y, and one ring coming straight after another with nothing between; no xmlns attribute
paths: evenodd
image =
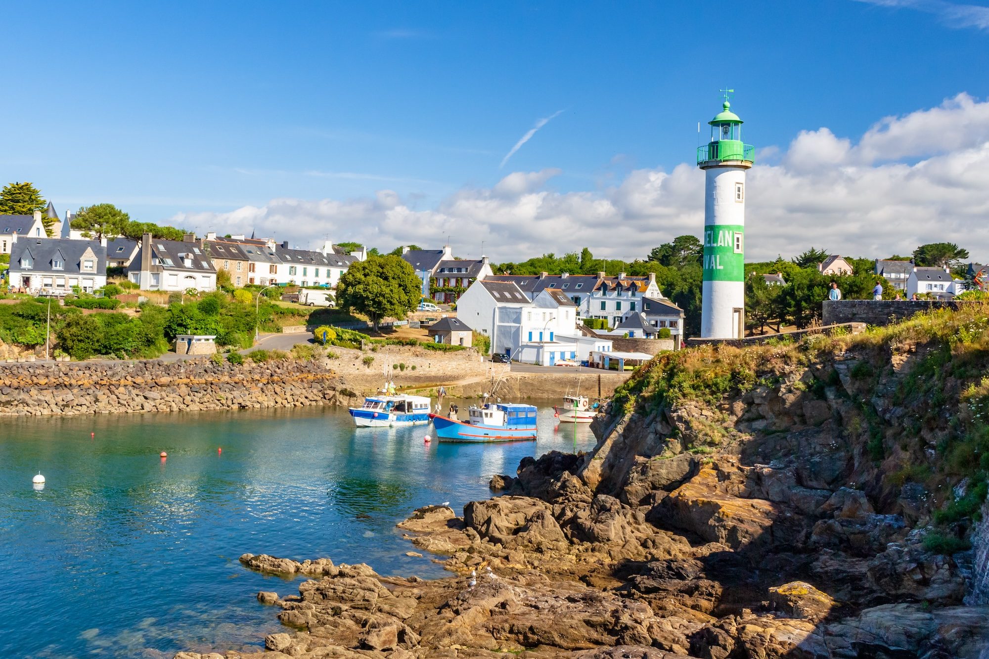
<svg viewBox="0 0 989 659"><path fill-rule="evenodd" d="M320 578L226 657L989 656L989 324L958 316L660 357L591 453L399 524L456 577L245 555Z"/></svg>

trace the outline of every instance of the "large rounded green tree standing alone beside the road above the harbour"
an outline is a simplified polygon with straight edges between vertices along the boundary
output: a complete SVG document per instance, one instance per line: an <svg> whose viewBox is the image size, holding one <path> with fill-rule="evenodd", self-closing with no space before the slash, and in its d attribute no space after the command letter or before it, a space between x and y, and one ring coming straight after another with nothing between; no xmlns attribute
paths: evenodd
<svg viewBox="0 0 989 659"><path fill-rule="evenodd" d="M367 316L377 331L386 316L405 318L418 304L420 288L415 270L401 256L371 256L340 276L336 303Z"/></svg>

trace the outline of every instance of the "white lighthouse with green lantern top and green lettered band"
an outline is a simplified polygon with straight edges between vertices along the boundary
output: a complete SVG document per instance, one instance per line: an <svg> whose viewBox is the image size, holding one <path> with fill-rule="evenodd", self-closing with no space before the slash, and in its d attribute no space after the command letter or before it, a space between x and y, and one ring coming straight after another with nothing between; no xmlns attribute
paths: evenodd
<svg viewBox="0 0 989 659"><path fill-rule="evenodd" d="M704 170L704 276L701 338L745 335L745 174L754 147L742 141L742 120L725 89L721 112L708 122L711 141L697 148Z"/></svg>

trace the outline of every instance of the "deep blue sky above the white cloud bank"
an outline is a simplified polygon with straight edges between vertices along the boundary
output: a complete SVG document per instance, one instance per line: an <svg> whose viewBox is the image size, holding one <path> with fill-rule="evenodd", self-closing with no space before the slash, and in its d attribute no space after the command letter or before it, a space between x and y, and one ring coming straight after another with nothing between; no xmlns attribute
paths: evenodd
<svg viewBox="0 0 989 659"><path fill-rule="evenodd" d="M401 206L426 238L373 212L306 212L296 234L284 227L291 214L260 223L301 242L350 231L391 247L454 233L470 251L468 235L510 223L457 216L464 195L500 199L506 175L546 172L513 194L607 200L634 172L671 174L691 162L697 122L725 85L746 141L777 147L761 151L770 165L801 131L827 127L854 144L884 117L989 96L989 9L937 0L37 2L5 15L24 28L0 43L8 81L23 81L0 105L5 182L34 181L60 212L111 202L201 232L237 228L230 214L274 199ZM912 165L937 150L889 159ZM675 233L691 213L653 221ZM568 231L565 209L553 220ZM546 244L551 235L525 248L579 247ZM637 255L626 242L601 253Z"/></svg>

